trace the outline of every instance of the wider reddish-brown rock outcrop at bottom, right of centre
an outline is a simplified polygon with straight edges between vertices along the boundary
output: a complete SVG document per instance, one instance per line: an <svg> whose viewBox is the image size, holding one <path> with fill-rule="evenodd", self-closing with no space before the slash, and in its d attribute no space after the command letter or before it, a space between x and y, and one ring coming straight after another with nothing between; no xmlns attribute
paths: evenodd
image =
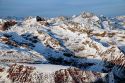
<svg viewBox="0 0 125 83"><path fill-rule="evenodd" d="M93 83L101 78L101 73L82 71L78 68L61 69L55 72L55 83Z"/></svg>

